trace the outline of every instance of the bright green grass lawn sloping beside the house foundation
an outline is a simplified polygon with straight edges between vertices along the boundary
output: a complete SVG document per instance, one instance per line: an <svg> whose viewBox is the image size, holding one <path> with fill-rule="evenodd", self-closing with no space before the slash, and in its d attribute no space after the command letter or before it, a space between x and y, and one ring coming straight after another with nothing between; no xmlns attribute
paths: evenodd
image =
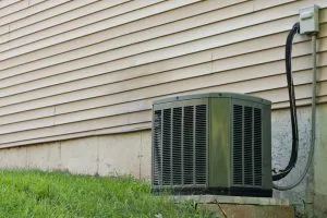
<svg viewBox="0 0 327 218"><path fill-rule="evenodd" d="M147 183L62 172L1 170L0 217L206 217L154 197Z"/></svg>

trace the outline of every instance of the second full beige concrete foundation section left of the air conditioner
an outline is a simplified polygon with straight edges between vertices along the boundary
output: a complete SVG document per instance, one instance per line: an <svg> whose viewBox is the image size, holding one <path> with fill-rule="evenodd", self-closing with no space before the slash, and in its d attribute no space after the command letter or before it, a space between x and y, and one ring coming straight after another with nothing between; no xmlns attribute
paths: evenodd
<svg viewBox="0 0 327 218"><path fill-rule="evenodd" d="M96 174L98 171L97 137L63 141L61 147L61 170L72 173Z"/></svg>

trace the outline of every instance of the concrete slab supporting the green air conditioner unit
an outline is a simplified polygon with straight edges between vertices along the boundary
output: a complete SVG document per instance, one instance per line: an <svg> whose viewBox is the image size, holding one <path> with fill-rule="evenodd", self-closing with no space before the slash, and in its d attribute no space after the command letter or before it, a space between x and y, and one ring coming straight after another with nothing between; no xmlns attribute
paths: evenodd
<svg viewBox="0 0 327 218"><path fill-rule="evenodd" d="M210 213L210 217L293 218L294 208L288 199L222 195L175 195L175 203L191 202Z"/></svg>

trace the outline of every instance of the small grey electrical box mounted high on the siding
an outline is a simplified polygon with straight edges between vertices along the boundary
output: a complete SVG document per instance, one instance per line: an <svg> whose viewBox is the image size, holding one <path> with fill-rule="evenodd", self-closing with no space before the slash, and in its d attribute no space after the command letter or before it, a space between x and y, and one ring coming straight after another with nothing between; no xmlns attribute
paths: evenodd
<svg viewBox="0 0 327 218"><path fill-rule="evenodd" d="M318 12L317 5L300 9L300 34L312 34L319 31Z"/></svg>

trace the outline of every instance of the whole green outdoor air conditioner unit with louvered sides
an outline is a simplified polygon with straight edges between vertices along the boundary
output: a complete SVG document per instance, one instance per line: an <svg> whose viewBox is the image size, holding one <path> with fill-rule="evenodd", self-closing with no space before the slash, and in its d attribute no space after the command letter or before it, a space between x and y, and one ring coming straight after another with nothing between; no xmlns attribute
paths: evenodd
<svg viewBox="0 0 327 218"><path fill-rule="evenodd" d="M153 105L153 191L271 196L271 102L232 93Z"/></svg>

